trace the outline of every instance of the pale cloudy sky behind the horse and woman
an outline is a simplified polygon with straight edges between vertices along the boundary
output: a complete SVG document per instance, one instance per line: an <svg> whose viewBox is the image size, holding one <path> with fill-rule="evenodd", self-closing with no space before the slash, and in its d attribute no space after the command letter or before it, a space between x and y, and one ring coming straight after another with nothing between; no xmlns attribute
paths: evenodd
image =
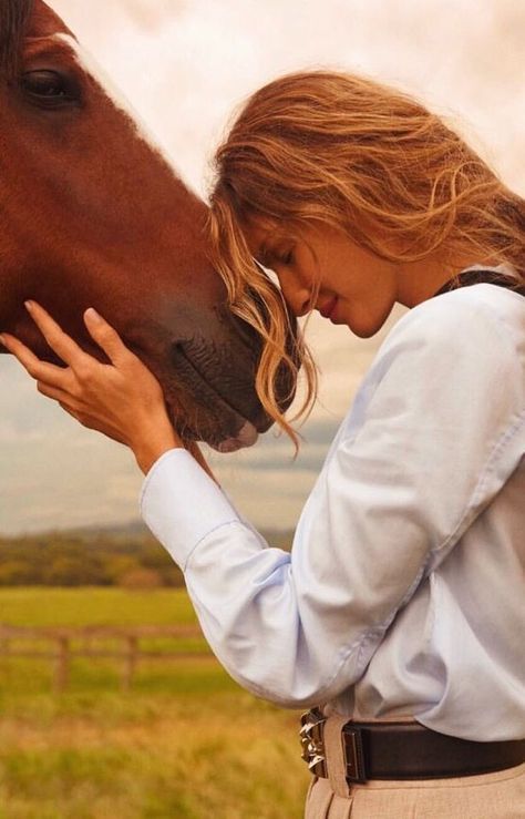
<svg viewBox="0 0 525 819"><path fill-rule="evenodd" d="M291 70L359 72L415 94L525 195L522 0L52 0L202 196L210 157L239 104ZM320 400L294 460L267 433L212 457L257 526L294 526L331 437L397 309L373 339L315 317L308 339ZM120 444L84 430L0 356L0 536L113 525L138 514L142 475Z"/></svg>

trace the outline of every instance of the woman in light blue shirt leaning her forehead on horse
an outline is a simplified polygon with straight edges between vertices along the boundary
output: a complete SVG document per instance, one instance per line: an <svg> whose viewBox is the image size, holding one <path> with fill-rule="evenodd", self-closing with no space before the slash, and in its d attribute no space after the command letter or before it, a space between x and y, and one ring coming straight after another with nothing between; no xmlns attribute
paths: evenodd
<svg viewBox="0 0 525 819"><path fill-rule="evenodd" d="M144 519L230 674L312 708L308 817L524 816L525 205L419 103L330 72L258 91L217 172L215 262L266 340L258 392L291 436L274 395L277 369L296 367L287 313L261 266L291 313L362 337L395 301L411 308L341 424L291 555L239 518L94 311L85 324L112 366L37 305L68 369L3 344L41 392L133 449Z"/></svg>

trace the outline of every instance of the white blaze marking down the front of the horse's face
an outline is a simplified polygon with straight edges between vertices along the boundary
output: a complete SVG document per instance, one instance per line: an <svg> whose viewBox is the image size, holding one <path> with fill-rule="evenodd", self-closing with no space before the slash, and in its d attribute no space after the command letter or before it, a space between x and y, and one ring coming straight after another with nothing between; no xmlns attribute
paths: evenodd
<svg viewBox="0 0 525 819"><path fill-rule="evenodd" d="M95 80L100 88L105 92L111 102L131 120L135 133L138 139L147 143L150 147L164 160L173 174L181 180L181 174L175 167L173 158L169 156L167 149L158 141L148 125L144 122L141 114L133 106L132 102L126 98L123 91L106 74L104 69L96 62L94 57L71 34L54 34L55 40L65 42L76 58L79 65Z"/></svg>

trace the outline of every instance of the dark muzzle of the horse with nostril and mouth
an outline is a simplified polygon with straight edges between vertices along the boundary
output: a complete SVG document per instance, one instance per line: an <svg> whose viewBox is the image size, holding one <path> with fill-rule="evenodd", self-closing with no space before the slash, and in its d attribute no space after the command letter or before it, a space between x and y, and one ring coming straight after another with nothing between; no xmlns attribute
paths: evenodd
<svg viewBox="0 0 525 819"><path fill-rule="evenodd" d="M274 422L255 389L260 336L224 306L165 301L154 313L155 323L134 321L124 337L161 382L181 437L219 452L251 447ZM291 403L294 389L294 376L282 367L276 383L281 411Z"/></svg>

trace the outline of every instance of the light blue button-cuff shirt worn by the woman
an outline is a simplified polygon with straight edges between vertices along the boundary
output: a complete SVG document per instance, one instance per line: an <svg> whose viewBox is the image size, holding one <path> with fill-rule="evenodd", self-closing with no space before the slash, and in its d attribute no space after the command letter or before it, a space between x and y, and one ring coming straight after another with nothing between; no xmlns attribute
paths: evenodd
<svg viewBox="0 0 525 819"><path fill-rule="evenodd" d="M524 366L523 296L478 284L411 309L339 429L291 554L184 450L154 464L142 514L235 679L284 706L525 737Z"/></svg>

